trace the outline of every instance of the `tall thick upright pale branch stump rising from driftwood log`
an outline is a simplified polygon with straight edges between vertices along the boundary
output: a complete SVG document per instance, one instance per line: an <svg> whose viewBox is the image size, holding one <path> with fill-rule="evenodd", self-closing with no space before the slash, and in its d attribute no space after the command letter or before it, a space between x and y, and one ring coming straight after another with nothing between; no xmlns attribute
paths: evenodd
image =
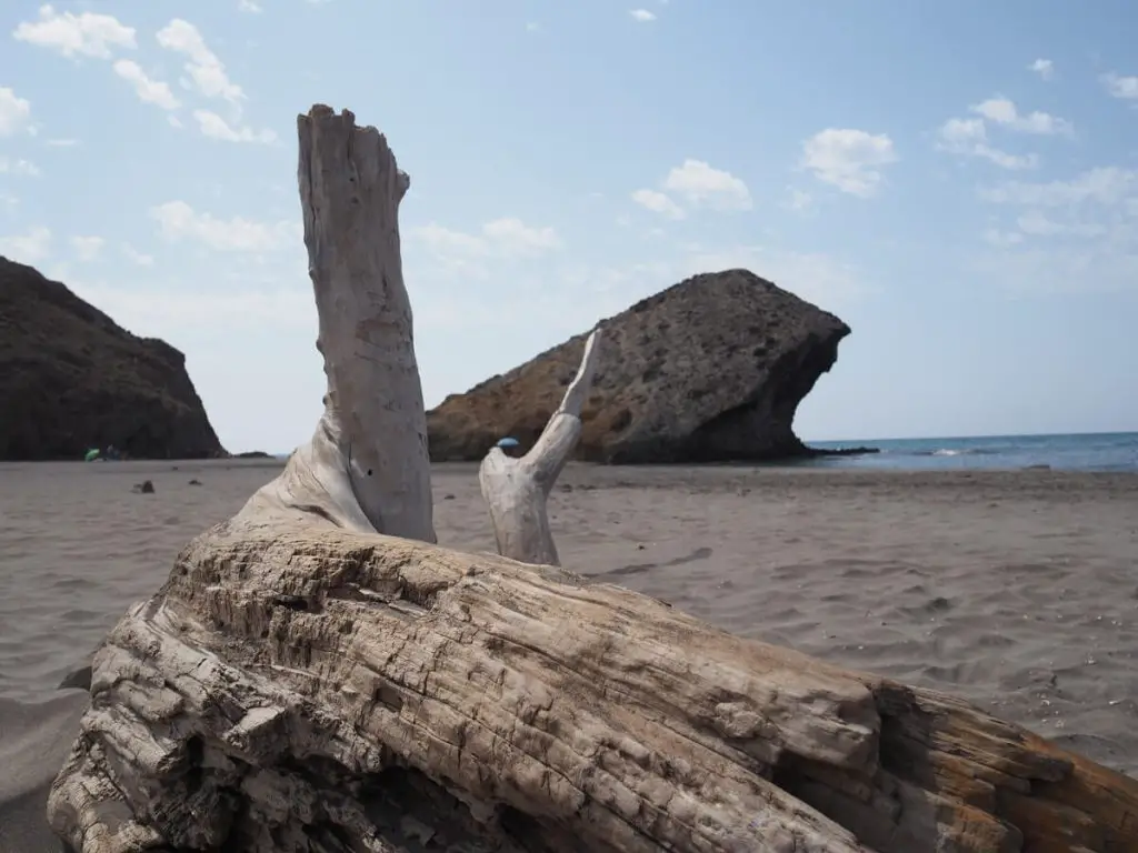
<svg viewBox="0 0 1138 853"><path fill-rule="evenodd" d="M328 392L312 440L244 511L436 541L427 414L403 283L399 201L411 179L374 127L315 106L297 117L300 206Z"/></svg>

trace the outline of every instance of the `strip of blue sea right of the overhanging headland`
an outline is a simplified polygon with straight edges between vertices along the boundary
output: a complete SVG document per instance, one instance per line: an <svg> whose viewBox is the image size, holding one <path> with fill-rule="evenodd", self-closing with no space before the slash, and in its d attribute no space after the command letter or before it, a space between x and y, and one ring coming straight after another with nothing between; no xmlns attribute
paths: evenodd
<svg viewBox="0 0 1138 853"><path fill-rule="evenodd" d="M1138 432L891 438L807 444L827 449L875 447L880 450L864 456L828 456L802 463L811 467L963 471L1047 465L1055 471L1138 472Z"/></svg>

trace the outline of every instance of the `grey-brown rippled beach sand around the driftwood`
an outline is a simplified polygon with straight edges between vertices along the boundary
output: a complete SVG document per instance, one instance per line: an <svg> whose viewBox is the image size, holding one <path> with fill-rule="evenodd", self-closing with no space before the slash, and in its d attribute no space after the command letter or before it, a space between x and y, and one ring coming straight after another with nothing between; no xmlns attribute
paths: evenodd
<svg viewBox="0 0 1138 853"><path fill-rule="evenodd" d="M0 465L0 851L59 850L85 694L56 685L275 470ZM475 466L436 470L435 507L442 544L493 549ZM1138 475L570 466L551 508L568 568L1138 775Z"/></svg>

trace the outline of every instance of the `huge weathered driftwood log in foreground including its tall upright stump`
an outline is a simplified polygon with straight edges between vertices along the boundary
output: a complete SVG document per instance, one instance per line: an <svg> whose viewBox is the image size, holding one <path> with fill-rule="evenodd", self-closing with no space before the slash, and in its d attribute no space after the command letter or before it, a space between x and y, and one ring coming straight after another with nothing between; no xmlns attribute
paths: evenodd
<svg viewBox="0 0 1138 853"><path fill-rule="evenodd" d="M97 652L48 803L69 845L1138 850L1138 781L960 701L431 544L407 180L351 113L299 135L325 413Z"/></svg>

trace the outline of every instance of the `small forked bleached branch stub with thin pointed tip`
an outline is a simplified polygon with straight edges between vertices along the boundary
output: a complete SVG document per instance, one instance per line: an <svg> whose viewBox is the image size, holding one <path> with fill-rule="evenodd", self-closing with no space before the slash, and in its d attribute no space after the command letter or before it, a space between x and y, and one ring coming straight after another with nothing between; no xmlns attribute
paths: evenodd
<svg viewBox="0 0 1138 853"><path fill-rule="evenodd" d="M596 373L600 330L585 341L580 366L558 411L529 453L520 458L494 447L478 469L478 483L489 506L498 554L522 563L560 565L550 530L547 502L580 438L580 409Z"/></svg>

